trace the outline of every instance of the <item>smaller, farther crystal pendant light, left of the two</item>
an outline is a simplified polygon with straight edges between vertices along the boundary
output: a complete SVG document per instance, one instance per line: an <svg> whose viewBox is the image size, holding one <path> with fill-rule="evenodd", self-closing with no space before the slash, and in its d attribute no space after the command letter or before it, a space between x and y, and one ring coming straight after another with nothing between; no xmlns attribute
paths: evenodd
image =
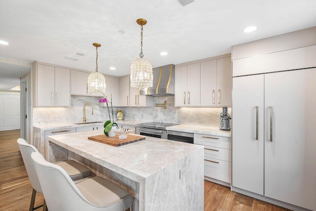
<svg viewBox="0 0 316 211"><path fill-rule="evenodd" d="M101 46L99 43L93 43L96 47L96 68L95 72L90 73L88 77L88 93L102 92L105 93L105 77L98 72L98 47Z"/></svg>

